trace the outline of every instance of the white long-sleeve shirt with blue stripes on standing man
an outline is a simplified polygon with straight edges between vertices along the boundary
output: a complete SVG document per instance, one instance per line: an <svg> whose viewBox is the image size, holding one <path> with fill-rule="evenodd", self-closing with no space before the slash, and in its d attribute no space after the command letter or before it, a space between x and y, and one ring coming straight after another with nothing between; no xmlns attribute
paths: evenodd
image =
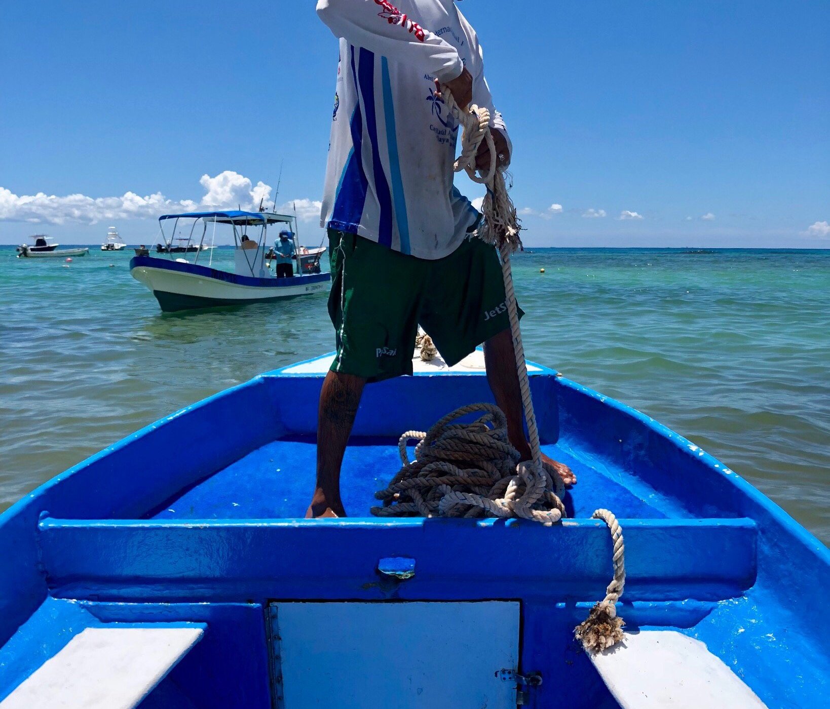
<svg viewBox="0 0 830 709"><path fill-rule="evenodd" d="M421 259L452 254L479 214L453 187L458 121L433 79L466 66L472 102L507 138L476 32L453 0L319 0L317 13L340 38L320 226Z"/></svg>

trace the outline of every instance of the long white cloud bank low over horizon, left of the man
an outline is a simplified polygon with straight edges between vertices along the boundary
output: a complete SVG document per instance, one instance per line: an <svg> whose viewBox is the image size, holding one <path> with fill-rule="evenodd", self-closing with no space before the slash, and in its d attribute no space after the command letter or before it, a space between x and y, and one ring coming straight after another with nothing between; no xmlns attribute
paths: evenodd
<svg viewBox="0 0 830 709"><path fill-rule="evenodd" d="M17 195L7 187L0 187L0 221L27 221L32 224L97 224L118 219L155 219L165 212L194 211L198 209L256 210L260 203L270 206L271 186L265 182L254 184L239 172L225 170L214 177L199 179L203 196L193 199L170 199L161 192L142 197L125 192L120 197L87 197L82 194ZM308 198L286 202L280 207L294 213L302 221L320 217L320 201Z"/></svg>

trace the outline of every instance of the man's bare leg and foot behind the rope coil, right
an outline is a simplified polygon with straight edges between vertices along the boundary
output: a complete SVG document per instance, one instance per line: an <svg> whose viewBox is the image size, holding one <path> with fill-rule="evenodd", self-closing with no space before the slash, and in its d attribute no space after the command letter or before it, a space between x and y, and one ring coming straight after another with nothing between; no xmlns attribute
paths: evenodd
<svg viewBox="0 0 830 709"><path fill-rule="evenodd" d="M521 402L519 372L516 371L515 350L510 328L496 333L484 343L484 362L487 383L490 385L496 405L507 417L507 435L510 443L519 451L522 460L530 460L530 444L525 438L525 412ZM561 464L544 453L542 459L554 467L565 484L572 485L576 476L567 465Z"/></svg>

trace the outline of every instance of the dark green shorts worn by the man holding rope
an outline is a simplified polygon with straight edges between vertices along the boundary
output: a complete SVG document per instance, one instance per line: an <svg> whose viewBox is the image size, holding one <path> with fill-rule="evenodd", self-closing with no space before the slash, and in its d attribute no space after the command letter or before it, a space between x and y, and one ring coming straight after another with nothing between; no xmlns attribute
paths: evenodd
<svg viewBox="0 0 830 709"><path fill-rule="evenodd" d="M425 260L330 229L329 256L332 371L368 381L412 374L418 324L450 366L510 328L498 252L475 237Z"/></svg>

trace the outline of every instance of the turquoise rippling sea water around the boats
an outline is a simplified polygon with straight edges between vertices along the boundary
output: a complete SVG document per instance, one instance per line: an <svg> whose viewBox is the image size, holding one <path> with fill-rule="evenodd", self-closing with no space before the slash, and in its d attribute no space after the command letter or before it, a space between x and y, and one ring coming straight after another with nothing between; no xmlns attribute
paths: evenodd
<svg viewBox="0 0 830 709"><path fill-rule="evenodd" d="M334 347L325 295L163 316L132 251L96 248L65 268L0 247L0 510L162 415ZM830 543L830 250L545 249L514 271L530 359L686 435Z"/></svg>

